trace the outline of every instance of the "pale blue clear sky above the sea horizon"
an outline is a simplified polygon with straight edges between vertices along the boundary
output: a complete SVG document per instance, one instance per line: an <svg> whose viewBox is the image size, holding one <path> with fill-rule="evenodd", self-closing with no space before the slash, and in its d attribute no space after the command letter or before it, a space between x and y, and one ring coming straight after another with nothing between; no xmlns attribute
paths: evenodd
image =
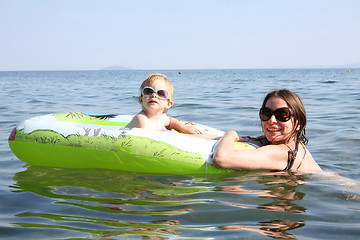
<svg viewBox="0 0 360 240"><path fill-rule="evenodd" d="M360 67L358 0L0 0L0 71Z"/></svg>

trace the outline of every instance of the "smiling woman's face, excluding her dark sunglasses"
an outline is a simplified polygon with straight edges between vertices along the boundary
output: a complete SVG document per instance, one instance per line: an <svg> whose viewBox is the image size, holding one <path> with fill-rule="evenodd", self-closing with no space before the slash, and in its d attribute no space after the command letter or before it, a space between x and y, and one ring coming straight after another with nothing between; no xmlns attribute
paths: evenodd
<svg viewBox="0 0 360 240"><path fill-rule="evenodd" d="M265 107L275 111L276 109L289 106L282 98L271 97L266 102ZM267 140L275 144L285 143L294 128L294 117L291 117L286 122L281 122L272 115L269 120L261 121L261 125Z"/></svg>

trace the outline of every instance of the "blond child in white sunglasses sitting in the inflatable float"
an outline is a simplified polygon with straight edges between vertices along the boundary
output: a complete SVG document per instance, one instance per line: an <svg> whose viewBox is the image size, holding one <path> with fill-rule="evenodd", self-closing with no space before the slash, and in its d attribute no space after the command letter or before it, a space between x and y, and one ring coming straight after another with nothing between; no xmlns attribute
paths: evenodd
<svg viewBox="0 0 360 240"><path fill-rule="evenodd" d="M174 87L163 74L151 74L143 81L139 90L142 110L131 120L127 128L160 131L175 129L187 134L201 134L194 126L185 125L185 122L166 115L166 111L174 103Z"/></svg>

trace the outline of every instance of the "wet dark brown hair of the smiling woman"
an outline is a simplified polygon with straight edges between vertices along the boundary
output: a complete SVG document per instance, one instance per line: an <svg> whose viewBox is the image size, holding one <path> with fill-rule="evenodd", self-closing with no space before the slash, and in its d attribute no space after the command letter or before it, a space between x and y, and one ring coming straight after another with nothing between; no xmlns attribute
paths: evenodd
<svg viewBox="0 0 360 240"><path fill-rule="evenodd" d="M287 141L295 137L297 142L302 142L306 145L308 143L308 139L305 136L306 111L300 97L289 89L277 89L266 95L262 107L265 107L271 97L282 98L294 114L294 128Z"/></svg>

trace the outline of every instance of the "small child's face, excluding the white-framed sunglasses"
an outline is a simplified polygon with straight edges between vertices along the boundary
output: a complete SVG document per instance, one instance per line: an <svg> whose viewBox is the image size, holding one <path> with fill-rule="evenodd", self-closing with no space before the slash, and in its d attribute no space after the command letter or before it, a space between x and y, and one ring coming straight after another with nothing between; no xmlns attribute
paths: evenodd
<svg viewBox="0 0 360 240"><path fill-rule="evenodd" d="M155 80L147 86L153 88L155 91L166 90L169 92L165 81L162 79ZM161 98L156 93L140 96L139 102L143 106L143 110L152 112L166 112L173 104L171 99Z"/></svg>

